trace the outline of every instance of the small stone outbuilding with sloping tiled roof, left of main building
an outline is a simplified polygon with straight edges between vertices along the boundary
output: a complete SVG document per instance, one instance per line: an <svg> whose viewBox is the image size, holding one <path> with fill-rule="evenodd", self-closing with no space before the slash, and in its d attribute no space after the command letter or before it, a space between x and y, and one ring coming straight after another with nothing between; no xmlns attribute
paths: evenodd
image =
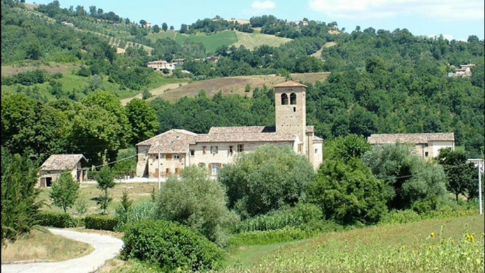
<svg viewBox="0 0 485 273"><path fill-rule="evenodd" d="M81 165L88 163L82 154L53 154L40 166L40 178L38 187L51 187L62 173L69 172L72 178L83 182L88 177L88 170L83 170Z"/></svg>

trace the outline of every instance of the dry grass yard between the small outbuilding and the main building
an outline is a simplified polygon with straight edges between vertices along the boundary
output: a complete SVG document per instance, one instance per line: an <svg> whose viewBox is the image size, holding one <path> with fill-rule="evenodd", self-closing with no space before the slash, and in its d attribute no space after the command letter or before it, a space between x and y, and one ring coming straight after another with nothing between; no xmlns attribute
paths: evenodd
<svg viewBox="0 0 485 273"><path fill-rule="evenodd" d="M111 216L115 216L115 209L119 204L122 192L124 190L128 191L129 199L133 200L133 204L139 204L141 202L146 202L151 199L152 189L158 190L158 184L155 182L144 182L144 183L117 183L114 188L109 190L110 196L113 198L110 206L107 209L107 213ZM52 201L49 197L51 192L50 188L42 188L40 191L38 201L44 201L45 205L41 209L44 211L57 211L63 212L59 207L54 207ZM86 214L98 214L100 209L96 206L96 202L91 200L94 197L98 197L101 194L101 190L98 190L95 184L81 184L81 189L79 192L79 198L86 201L88 211ZM67 210L68 213L77 214L75 208Z"/></svg>

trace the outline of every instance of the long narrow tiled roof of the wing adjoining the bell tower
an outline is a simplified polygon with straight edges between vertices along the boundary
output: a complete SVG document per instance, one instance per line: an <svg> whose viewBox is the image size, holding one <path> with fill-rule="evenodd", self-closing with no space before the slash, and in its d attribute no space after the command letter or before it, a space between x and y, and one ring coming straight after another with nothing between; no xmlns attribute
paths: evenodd
<svg viewBox="0 0 485 273"><path fill-rule="evenodd" d="M244 128L244 127L242 127ZM282 133L247 133L247 134L199 134L197 142L265 142L265 141L295 141L295 134Z"/></svg>

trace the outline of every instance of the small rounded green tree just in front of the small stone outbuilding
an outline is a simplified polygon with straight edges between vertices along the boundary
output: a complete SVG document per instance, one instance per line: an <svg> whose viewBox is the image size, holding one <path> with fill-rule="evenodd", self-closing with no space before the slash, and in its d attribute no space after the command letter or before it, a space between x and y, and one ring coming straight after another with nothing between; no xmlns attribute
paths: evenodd
<svg viewBox="0 0 485 273"><path fill-rule="evenodd" d="M54 201L54 205L64 209L74 206L74 202L78 198L79 182L72 178L71 173L63 173L56 182L52 184L52 192L50 198Z"/></svg>

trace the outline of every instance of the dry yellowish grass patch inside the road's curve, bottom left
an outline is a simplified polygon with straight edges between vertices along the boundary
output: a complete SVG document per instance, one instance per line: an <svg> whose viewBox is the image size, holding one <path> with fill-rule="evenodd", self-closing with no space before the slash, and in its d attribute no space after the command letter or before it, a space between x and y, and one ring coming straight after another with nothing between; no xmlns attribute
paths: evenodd
<svg viewBox="0 0 485 273"><path fill-rule="evenodd" d="M88 255L93 250L87 243L56 236L47 228L39 228L14 243L2 245L1 263L60 262Z"/></svg>

